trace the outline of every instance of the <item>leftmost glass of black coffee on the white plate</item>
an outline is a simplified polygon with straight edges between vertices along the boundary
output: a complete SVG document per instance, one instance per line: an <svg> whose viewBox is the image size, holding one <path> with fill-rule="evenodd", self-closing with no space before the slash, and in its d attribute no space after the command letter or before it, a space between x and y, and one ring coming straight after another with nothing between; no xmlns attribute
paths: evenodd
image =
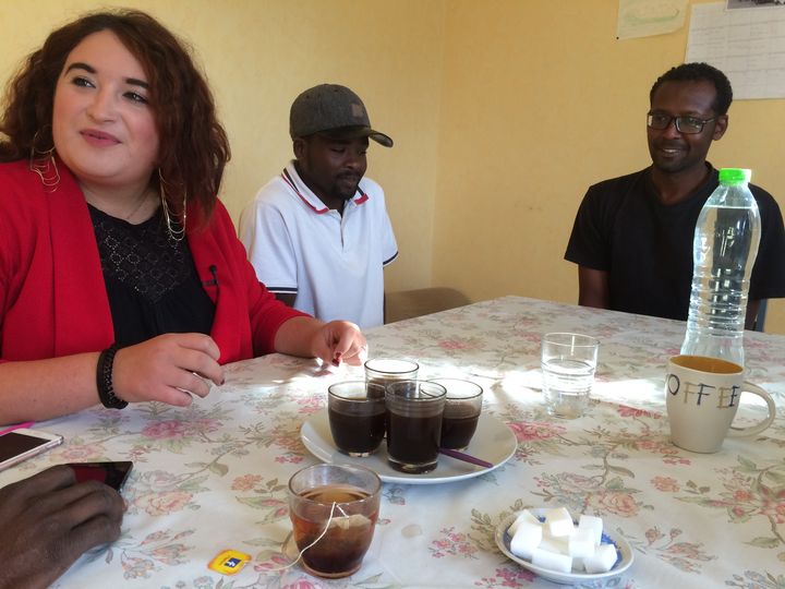
<svg viewBox="0 0 785 589"><path fill-rule="evenodd" d="M336 447L349 456L376 452L385 434L385 388L378 383L347 381L327 389L327 416Z"/></svg>

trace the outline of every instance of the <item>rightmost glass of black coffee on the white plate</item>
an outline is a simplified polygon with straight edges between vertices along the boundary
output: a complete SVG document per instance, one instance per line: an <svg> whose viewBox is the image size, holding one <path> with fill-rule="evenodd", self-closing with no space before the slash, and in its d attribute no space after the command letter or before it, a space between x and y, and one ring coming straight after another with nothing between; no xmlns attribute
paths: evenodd
<svg viewBox="0 0 785 589"><path fill-rule="evenodd" d="M433 378L431 382L438 383L447 389L442 418L440 446L466 449L480 421L482 386L461 378Z"/></svg>

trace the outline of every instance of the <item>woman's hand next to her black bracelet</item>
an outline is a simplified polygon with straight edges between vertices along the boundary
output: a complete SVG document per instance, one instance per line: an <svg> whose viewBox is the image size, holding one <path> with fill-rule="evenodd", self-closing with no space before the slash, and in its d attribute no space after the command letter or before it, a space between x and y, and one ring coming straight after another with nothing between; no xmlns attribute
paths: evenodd
<svg viewBox="0 0 785 589"><path fill-rule="evenodd" d="M157 400L184 407L191 395L205 397L210 382L224 384L220 350L204 334L165 334L114 356L114 394L129 402Z"/></svg>

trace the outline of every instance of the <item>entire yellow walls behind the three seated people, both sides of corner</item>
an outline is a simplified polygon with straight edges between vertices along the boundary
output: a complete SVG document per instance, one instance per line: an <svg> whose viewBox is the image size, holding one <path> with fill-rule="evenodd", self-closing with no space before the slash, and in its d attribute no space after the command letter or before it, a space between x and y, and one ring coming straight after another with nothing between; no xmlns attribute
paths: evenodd
<svg viewBox="0 0 785 589"><path fill-rule="evenodd" d="M0 2L0 80L89 0ZM35 5L35 9L31 8ZM291 154L288 110L311 85L355 89L396 145L373 144L401 256L389 289L452 286L473 300L577 300L563 261L587 187L649 164L652 82L687 29L619 41L615 0L129 1L190 40L232 144L221 197L237 219ZM745 166L785 208L783 100L737 101L710 154ZM769 330L785 334L785 302Z"/></svg>

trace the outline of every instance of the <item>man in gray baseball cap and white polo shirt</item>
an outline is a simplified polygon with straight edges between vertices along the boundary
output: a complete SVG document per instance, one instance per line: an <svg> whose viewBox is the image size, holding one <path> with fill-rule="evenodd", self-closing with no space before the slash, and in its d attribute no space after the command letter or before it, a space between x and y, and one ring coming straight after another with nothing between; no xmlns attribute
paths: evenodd
<svg viewBox="0 0 785 589"><path fill-rule="evenodd" d="M365 178L371 127L346 86L321 84L292 103L294 159L256 194L240 239L256 276L287 304L363 329L384 323L383 268L398 256L382 188Z"/></svg>

